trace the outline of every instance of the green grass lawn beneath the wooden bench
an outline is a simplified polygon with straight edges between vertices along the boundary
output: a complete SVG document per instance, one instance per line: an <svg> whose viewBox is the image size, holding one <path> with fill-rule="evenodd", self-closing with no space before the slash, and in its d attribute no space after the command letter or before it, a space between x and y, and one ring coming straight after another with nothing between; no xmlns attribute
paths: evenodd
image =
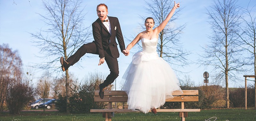
<svg viewBox="0 0 256 121"><path fill-rule="evenodd" d="M113 121L180 121L178 112L115 113ZM59 112L21 112L20 115L0 114L0 121L103 121L102 113L63 114ZM254 109L219 109L188 112L186 121L255 121Z"/></svg>

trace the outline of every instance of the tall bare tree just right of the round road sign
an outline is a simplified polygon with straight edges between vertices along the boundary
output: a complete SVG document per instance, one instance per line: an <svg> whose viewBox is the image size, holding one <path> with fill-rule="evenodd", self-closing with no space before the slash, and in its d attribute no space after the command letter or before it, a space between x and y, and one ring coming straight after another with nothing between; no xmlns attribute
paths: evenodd
<svg viewBox="0 0 256 121"><path fill-rule="evenodd" d="M203 47L203 59L198 60L203 66L212 66L217 73L215 80L225 79L226 106L229 108L228 80L236 81L237 71L245 71L241 67L245 65L242 60L242 48L236 43L239 30L239 7L237 0L215 0L207 9L209 24L211 24L212 40L207 47ZM224 79L223 79L224 78Z"/></svg>

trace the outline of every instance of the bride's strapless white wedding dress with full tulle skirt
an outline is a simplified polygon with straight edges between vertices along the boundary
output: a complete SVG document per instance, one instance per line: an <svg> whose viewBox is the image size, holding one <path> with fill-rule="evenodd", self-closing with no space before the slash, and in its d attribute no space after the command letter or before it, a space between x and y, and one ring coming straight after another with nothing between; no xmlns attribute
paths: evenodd
<svg viewBox="0 0 256 121"><path fill-rule="evenodd" d="M157 41L157 38L141 39L142 51L133 55L122 77L128 109L148 113L150 109L164 105L166 98L173 98L173 91L180 90L182 94L172 68L156 52Z"/></svg>

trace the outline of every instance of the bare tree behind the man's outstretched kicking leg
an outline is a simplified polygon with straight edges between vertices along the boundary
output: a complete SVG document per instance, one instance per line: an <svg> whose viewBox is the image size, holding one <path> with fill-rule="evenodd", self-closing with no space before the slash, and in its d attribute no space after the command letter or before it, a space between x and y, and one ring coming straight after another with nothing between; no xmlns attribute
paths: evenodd
<svg viewBox="0 0 256 121"><path fill-rule="evenodd" d="M31 33L33 37L39 40L36 41L36 46L41 49L41 53L44 54L42 59L45 60L36 67L49 69L50 74L51 72L60 71L60 55L65 60L68 59L68 56L72 55L86 40L91 39L89 27L83 27L84 15L82 15L83 10L79 10L80 4L80 0L43 1L44 9L47 13L46 15L39 15L44 18L44 22L49 28L36 34ZM65 75L67 113L69 113L70 80L68 70Z"/></svg>

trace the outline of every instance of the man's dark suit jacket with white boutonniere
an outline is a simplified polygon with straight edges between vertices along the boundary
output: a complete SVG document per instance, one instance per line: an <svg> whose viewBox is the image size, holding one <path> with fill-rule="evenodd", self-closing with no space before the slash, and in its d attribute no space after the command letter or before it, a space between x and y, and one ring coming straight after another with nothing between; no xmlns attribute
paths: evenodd
<svg viewBox="0 0 256 121"><path fill-rule="evenodd" d="M118 58L119 52L117 49L116 38L121 51L125 50L123 34L118 19L116 17L108 17L108 19L110 21L112 34L110 35L107 28L98 18L95 22L92 23L92 33L94 38L93 42L95 42L99 50L100 58L105 57L104 50L107 50L108 48L111 51L112 57Z"/></svg>

